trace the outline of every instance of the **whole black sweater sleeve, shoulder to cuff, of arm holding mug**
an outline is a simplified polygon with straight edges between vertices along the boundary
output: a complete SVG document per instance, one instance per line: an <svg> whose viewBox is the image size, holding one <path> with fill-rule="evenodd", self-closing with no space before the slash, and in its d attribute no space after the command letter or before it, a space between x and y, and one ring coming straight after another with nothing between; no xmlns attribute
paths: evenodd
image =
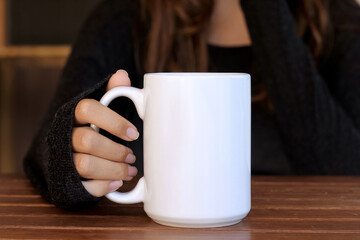
<svg viewBox="0 0 360 240"><path fill-rule="evenodd" d="M100 198L81 184L72 158L74 110L84 98L100 99L109 76L122 68L134 73L131 55L131 1L105 1L83 26L64 68L57 92L24 159L24 171L49 202L76 209ZM126 102L119 102L126 112Z"/></svg>

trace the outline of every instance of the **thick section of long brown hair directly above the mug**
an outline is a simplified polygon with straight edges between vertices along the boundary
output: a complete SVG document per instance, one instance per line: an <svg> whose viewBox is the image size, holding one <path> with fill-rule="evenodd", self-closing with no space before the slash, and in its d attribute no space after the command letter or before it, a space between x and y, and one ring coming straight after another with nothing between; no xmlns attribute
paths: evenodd
<svg viewBox="0 0 360 240"><path fill-rule="evenodd" d="M141 62L145 72L206 71L204 28L212 0L141 0L142 23L148 25ZM147 24L148 23L148 24Z"/></svg>

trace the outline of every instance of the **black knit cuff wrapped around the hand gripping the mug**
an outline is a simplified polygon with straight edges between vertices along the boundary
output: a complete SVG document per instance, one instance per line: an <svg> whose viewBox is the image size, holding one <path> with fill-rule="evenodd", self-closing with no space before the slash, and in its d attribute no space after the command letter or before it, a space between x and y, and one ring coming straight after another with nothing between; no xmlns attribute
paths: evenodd
<svg viewBox="0 0 360 240"><path fill-rule="evenodd" d="M86 191L76 171L72 152L74 111L84 98L98 99L105 93L110 76L62 105L56 112L47 138L49 146L48 190L50 201L60 208L79 209L96 204L101 198Z"/></svg>

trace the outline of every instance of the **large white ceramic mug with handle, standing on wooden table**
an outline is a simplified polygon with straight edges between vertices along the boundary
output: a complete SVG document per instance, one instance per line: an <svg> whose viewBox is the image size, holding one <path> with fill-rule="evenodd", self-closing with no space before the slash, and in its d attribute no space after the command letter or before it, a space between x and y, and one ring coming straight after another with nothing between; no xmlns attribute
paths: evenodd
<svg viewBox="0 0 360 240"><path fill-rule="evenodd" d="M144 88L116 87L144 122L144 177L117 203L144 202L155 222L177 227L236 224L250 211L250 75L150 73Z"/></svg>

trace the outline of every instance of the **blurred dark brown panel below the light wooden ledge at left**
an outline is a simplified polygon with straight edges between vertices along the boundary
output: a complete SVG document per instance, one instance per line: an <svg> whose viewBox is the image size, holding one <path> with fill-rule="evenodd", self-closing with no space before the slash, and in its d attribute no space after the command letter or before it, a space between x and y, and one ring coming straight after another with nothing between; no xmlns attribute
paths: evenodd
<svg viewBox="0 0 360 240"><path fill-rule="evenodd" d="M1 172L22 171L22 159L40 127L65 59L1 60Z"/></svg>

